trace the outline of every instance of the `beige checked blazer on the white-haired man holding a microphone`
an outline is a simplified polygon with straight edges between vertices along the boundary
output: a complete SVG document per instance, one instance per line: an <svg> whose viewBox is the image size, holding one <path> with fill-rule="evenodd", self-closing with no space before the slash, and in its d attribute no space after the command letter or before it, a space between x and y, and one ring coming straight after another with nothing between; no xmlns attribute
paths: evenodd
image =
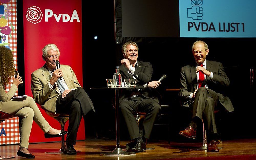
<svg viewBox="0 0 256 160"><path fill-rule="evenodd" d="M60 68L63 71L62 77L70 90L82 88L70 66L60 65ZM55 86L53 90L50 90L48 85L50 79L51 75L45 65L35 70L31 74L31 90L36 103L46 111L56 113L56 100L60 95L59 88Z"/></svg>

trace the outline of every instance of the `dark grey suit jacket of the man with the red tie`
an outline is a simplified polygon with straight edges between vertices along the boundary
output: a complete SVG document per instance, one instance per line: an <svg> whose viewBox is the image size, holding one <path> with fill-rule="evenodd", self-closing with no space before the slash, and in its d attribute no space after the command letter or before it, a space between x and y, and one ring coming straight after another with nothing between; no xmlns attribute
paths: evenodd
<svg viewBox="0 0 256 160"><path fill-rule="evenodd" d="M229 78L227 77L223 65L220 62L206 60L206 70L213 72L212 79L207 77L207 86L219 95L220 103L229 111L233 111L233 105L230 99L225 96L225 91L229 86ZM179 96L183 106L188 107L189 95L193 93L197 86L196 66L187 65L180 71L180 92Z"/></svg>

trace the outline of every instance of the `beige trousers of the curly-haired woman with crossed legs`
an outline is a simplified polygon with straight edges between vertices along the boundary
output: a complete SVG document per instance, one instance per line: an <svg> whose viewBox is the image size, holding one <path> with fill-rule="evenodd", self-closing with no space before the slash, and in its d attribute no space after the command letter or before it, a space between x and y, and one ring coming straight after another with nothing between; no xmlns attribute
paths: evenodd
<svg viewBox="0 0 256 160"><path fill-rule="evenodd" d="M2 102L0 110L19 117L21 148L28 148L28 140L33 120L45 133L51 128L49 123L42 116L36 102L31 97L27 97L24 101L10 100L8 102Z"/></svg>

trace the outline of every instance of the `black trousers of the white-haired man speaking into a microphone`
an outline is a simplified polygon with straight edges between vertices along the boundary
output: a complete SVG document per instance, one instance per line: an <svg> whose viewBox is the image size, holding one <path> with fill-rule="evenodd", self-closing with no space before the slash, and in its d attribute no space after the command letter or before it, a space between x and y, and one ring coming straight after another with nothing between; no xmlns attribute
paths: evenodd
<svg viewBox="0 0 256 160"><path fill-rule="evenodd" d="M56 101L56 112L69 114L67 144L76 144L82 116L85 116L90 110L94 111L92 101L82 88L69 92L65 98L59 95Z"/></svg>

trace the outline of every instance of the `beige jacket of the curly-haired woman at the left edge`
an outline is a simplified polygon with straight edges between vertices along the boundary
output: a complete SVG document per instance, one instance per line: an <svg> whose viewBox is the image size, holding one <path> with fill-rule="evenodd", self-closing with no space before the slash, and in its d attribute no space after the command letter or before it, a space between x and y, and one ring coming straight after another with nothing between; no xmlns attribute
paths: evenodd
<svg viewBox="0 0 256 160"><path fill-rule="evenodd" d="M15 84L12 85L10 90L6 93L4 87L2 86L1 77L0 77L0 110L5 106L5 103L13 98L14 93L18 90ZM15 103L15 101L13 101Z"/></svg>

